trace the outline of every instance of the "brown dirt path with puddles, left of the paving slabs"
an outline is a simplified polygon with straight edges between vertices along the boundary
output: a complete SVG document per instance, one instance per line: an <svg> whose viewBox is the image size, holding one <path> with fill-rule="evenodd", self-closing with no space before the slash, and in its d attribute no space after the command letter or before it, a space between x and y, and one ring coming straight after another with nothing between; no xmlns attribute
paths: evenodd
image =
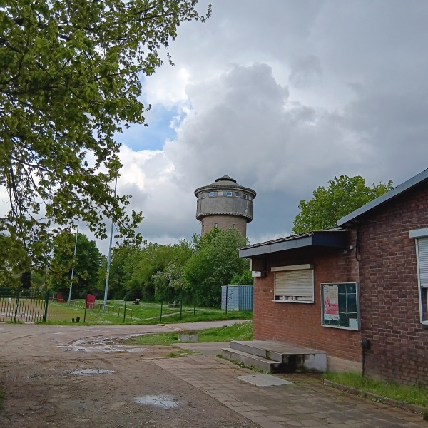
<svg viewBox="0 0 428 428"><path fill-rule="evenodd" d="M258 427L154 363L175 348L120 345L161 331L0 325L0 427Z"/></svg>

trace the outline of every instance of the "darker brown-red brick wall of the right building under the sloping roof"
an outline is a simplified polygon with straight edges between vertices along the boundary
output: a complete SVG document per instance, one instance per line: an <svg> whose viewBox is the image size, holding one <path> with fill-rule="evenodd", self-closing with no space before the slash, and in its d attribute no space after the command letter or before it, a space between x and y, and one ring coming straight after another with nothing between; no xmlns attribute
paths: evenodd
<svg viewBox="0 0 428 428"><path fill-rule="evenodd" d="M409 230L428 227L428 191L408 192L360 228L365 373L428 386L428 325L419 321L417 260Z"/></svg>

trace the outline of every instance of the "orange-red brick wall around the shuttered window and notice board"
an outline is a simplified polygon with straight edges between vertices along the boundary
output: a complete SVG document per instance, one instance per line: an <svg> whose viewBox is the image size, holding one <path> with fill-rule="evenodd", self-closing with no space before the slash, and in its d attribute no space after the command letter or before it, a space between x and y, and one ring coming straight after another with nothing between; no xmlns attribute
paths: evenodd
<svg viewBox="0 0 428 428"><path fill-rule="evenodd" d="M255 278L254 337L277 340L326 351L329 356L361 362L361 332L321 326L320 284L322 282L358 282L355 253L277 260L267 265L267 276ZM309 255L308 255L309 254ZM315 303L272 302L273 266L312 263L315 267Z"/></svg>

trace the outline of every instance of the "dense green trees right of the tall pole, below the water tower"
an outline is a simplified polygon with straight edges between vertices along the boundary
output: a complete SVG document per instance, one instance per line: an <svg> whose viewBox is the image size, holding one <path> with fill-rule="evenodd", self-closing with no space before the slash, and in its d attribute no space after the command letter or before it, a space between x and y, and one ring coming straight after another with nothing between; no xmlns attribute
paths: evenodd
<svg viewBox="0 0 428 428"><path fill-rule="evenodd" d="M113 250L108 297L220 306L222 285L237 279L253 284L249 261L238 255L246 243L239 230L213 229L172 245L123 245ZM99 288L105 284L106 260L101 265Z"/></svg>

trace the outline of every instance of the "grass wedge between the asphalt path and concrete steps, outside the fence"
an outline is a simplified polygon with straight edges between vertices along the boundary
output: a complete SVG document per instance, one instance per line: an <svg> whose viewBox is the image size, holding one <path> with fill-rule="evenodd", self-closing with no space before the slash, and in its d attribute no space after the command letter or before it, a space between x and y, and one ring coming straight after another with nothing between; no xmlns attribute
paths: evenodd
<svg viewBox="0 0 428 428"><path fill-rule="evenodd" d="M253 322L236 323L223 327L208 328L193 331L198 335L199 342L228 342L229 340L252 340ZM174 345L178 343L180 332L158 333L132 337L124 342L125 345Z"/></svg>

